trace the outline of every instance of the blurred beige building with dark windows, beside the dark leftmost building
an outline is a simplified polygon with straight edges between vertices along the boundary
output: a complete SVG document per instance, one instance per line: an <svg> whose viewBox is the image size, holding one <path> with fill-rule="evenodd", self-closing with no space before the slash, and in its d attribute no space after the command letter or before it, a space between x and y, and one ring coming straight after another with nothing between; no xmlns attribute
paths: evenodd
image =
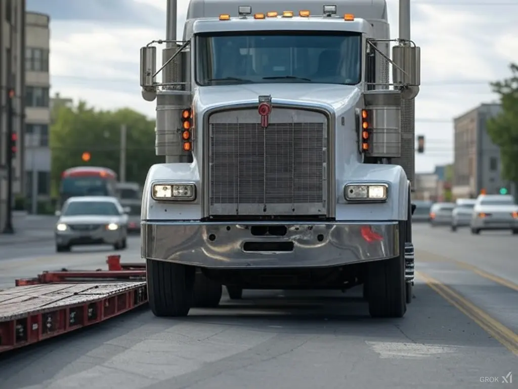
<svg viewBox="0 0 518 389"><path fill-rule="evenodd" d="M36 213L50 200L50 18L27 12L25 20L25 197Z"/></svg>

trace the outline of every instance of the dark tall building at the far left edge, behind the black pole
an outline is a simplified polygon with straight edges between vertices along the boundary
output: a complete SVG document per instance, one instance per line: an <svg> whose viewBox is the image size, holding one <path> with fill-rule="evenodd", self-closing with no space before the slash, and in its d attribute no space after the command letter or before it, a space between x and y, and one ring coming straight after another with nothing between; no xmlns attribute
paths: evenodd
<svg viewBox="0 0 518 389"><path fill-rule="evenodd" d="M24 104L25 104L25 1L0 1L0 231L5 227L7 204L7 151L11 147L8 126L16 137L12 158L12 193L23 192ZM8 109L8 93L11 109ZM8 115L9 114L9 115ZM14 205L14 196L11 198Z"/></svg>

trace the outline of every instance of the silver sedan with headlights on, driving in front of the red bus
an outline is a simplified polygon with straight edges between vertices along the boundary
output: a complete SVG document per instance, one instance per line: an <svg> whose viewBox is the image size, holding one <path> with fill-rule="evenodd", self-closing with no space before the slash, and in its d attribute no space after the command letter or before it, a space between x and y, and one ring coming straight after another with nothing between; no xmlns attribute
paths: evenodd
<svg viewBox="0 0 518 389"><path fill-rule="evenodd" d="M69 198L59 216L55 229L57 252L96 244L109 244L116 250L126 248L128 216L116 198Z"/></svg>

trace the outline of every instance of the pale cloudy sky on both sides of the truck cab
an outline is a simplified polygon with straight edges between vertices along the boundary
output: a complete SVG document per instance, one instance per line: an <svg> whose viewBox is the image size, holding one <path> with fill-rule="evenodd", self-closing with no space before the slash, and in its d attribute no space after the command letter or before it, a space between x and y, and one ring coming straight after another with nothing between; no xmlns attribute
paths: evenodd
<svg viewBox="0 0 518 389"><path fill-rule="evenodd" d="M387 3L395 37L398 2ZM179 37L187 6L178 0ZM27 0L51 17L51 93L153 117L154 103L140 96L139 48L165 37L165 8L165 0ZM518 0L412 0L412 39L422 48L416 134L427 147L418 172L452 161L453 117L496 101L488 82L518 61L517 14Z"/></svg>

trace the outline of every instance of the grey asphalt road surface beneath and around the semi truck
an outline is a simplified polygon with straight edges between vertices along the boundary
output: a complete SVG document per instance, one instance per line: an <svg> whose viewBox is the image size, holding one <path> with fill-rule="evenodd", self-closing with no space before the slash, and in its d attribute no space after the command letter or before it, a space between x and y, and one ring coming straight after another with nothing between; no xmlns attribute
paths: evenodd
<svg viewBox="0 0 518 389"><path fill-rule="evenodd" d="M428 225L413 236L418 278L402 319L368 317L359 290L245 291L186 318L142 309L2 355L0 388L516 387L518 237ZM55 254L40 242L0 253L2 288L42 270L106 267L116 252ZM117 253L137 261L139 239Z"/></svg>

